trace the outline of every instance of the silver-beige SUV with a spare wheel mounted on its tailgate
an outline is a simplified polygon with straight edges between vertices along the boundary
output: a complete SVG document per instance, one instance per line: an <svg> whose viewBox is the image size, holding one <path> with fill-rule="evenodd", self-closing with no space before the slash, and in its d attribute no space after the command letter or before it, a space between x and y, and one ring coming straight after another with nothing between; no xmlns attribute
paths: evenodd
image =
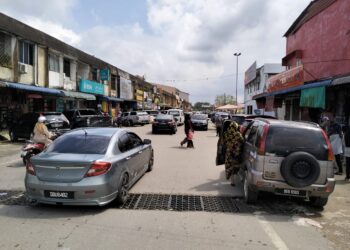
<svg viewBox="0 0 350 250"><path fill-rule="evenodd" d="M309 199L323 207L335 186L334 156L314 123L255 119L247 128L240 175L247 202L261 191ZM222 159L224 151L217 158Z"/></svg>

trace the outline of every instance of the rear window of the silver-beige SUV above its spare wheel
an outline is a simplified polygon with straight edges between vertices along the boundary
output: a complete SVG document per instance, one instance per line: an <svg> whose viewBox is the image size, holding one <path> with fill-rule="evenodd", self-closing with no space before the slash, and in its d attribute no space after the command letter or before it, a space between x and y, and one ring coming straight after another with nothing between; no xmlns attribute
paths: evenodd
<svg viewBox="0 0 350 250"><path fill-rule="evenodd" d="M287 156L304 151L318 160L327 160L327 143L318 129L297 127L270 127L266 139L266 152Z"/></svg>

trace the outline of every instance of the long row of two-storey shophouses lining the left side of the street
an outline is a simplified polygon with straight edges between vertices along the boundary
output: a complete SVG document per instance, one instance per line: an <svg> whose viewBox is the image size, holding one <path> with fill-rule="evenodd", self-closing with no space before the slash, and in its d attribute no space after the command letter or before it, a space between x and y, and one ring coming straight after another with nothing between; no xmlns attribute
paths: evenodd
<svg viewBox="0 0 350 250"><path fill-rule="evenodd" d="M168 95L168 104L177 107L173 93ZM26 112L100 108L115 116L157 109L161 98L156 85L145 79L0 13L2 129Z"/></svg>

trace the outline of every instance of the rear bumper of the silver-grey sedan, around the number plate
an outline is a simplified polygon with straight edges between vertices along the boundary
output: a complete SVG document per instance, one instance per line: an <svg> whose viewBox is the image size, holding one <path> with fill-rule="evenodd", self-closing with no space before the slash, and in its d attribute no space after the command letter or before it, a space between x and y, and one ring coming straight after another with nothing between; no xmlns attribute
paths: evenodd
<svg viewBox="0 0 350 250"><path fill-rule="evenodd" d="M97 176L94 184L86 178L76 183L41 181L36 176L26 174L25 188L29 200L44 204L104 206L117 197L117 185L106 183L105 178ZM44 191L73 192L74 198L50 198Z"/></svg>

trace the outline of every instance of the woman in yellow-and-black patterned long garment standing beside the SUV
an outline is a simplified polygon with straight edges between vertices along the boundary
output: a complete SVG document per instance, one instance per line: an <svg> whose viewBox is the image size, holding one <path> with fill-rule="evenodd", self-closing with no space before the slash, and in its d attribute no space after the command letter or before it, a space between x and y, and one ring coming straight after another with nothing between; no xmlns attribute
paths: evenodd
<svg viewBox="0 0 350 250"><path fill-rule="evenodd" d="M226 144L226 179L231 179L232 186L234 186L233 176L237 174L240 168L243 142L244 139L239 132L238 124L236 122L231 122L228 130L224 133L224 143Z"/></svg>

